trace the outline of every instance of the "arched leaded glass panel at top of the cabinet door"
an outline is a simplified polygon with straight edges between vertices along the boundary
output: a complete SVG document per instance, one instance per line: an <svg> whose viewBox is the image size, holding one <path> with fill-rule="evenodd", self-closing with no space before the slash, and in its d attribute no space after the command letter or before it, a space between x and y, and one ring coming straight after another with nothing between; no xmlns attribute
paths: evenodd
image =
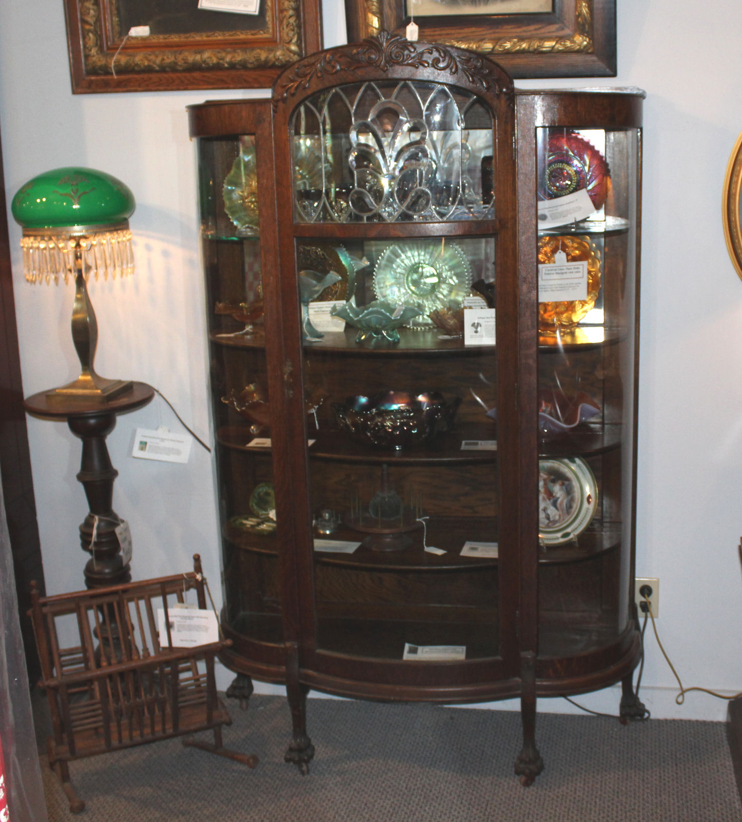
<svg viewBox="0 0 742 822"><path fill-rule="evenodd" d="M298 223L494 216L493 120L453 86L378 81L307 99L291 120Z"/></svg>

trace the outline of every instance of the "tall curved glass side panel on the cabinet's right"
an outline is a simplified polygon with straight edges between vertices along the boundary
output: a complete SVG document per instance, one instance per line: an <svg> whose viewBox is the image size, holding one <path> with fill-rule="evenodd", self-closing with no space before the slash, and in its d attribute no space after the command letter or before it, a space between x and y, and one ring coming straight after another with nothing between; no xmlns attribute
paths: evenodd
<svg viewBox="0 0 742 822"><path fill-rule="evenodd" d="M540 655L628 626L638 132L536 130Z"/></svg>

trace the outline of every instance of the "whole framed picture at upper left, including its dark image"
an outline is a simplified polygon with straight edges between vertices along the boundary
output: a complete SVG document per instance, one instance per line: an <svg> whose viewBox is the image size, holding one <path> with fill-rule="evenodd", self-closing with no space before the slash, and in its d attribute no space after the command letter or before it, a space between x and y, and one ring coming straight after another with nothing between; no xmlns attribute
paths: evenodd
<svg viewBox="0 0 742 822"><path fill-rule="evenodd" d="M322 48L320 0L65 0L72 92L270 88Z"/></svg>

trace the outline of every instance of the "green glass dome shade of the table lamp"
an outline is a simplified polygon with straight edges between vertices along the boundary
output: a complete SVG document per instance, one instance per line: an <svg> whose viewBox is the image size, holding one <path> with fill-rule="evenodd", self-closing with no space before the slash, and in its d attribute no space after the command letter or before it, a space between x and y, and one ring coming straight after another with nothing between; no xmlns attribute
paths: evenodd
<svg viewBox="0 0 742 822"><path fill-rule="evenodd" d="M66 166L26 182L11 210L24 229L59 229L123 223L134 206L132 192L111 174Z"/></svg>

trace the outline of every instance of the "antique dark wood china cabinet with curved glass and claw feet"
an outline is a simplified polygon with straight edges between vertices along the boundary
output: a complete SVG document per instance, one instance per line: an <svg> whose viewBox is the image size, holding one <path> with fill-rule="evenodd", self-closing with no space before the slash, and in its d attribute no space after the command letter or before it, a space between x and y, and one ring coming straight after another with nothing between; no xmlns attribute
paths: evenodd
<svg viewBox="0 0 742 822"><path fill-rule="evenodd" d="M381 35L191 107L238 673L374 700L623 684L642 93Z"/></svg>

